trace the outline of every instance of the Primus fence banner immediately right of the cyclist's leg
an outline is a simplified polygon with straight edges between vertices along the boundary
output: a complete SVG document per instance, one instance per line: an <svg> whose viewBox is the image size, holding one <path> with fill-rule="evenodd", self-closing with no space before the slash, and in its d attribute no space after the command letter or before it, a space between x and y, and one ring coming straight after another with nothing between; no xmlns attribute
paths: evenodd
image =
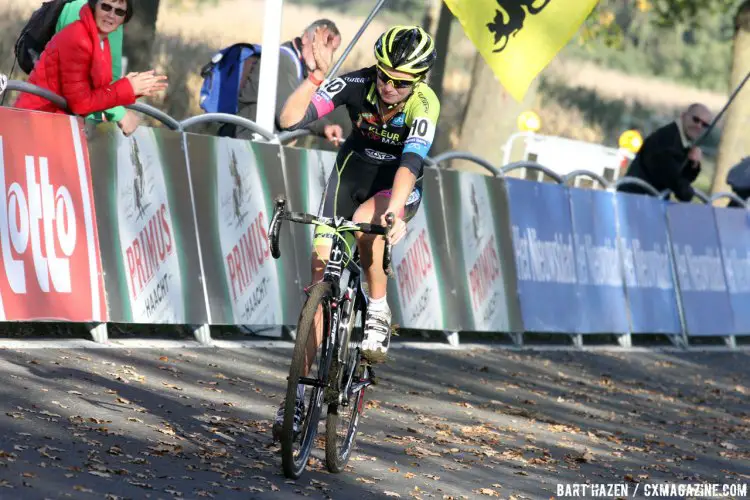
<svg viewBox="0 0 750 500"><path fill-rule="evenodd" d="M435 168L424 169L423 198L393 247L394 276L388 280L393 323L417 330L457 331L456 279L445 234L445 204Z"/></svg>

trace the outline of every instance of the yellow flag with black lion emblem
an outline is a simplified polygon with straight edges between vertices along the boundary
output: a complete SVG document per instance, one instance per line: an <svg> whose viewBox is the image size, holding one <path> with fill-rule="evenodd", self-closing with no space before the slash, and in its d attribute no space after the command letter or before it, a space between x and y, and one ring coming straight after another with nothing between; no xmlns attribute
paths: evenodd
<svg viewBox="0 0 750 500"><path fill-rule="evenodd" d="M445 0L500 83L522 101L598 0Z"/></svg>

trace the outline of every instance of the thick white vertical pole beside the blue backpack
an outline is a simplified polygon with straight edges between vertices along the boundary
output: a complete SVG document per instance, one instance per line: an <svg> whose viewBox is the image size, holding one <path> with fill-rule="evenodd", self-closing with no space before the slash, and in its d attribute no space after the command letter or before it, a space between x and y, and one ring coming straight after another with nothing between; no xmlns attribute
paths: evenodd
<svg viewBox="0 0 750 500"><path fill-rule="evenodd" d="M279 47L283 0L266 0L263 23L263 57L260 58L260 86L255 123L264 130L275 130L276 84L279 76ZM255 140L260 137L256 134Z"/></svg>

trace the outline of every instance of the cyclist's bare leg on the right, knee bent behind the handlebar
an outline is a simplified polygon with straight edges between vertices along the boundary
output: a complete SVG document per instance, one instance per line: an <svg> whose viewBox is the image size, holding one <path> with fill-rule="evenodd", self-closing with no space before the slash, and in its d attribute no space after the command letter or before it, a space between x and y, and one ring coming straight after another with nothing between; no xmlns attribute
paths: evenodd
<svg viewBox="0 0 750 500"><path fill-rule="evenodd" d="M390 200L385 196L375 196L362 203L354 213L354 222L367 222L380 224L380 218L388 209ZM359 247L360 263L365 271L367 279L367 295L371 299L385 297L388 289L388 276L383 270L383 252L385 251L385 238L379 235L356 233L357 246Z"/></svg>

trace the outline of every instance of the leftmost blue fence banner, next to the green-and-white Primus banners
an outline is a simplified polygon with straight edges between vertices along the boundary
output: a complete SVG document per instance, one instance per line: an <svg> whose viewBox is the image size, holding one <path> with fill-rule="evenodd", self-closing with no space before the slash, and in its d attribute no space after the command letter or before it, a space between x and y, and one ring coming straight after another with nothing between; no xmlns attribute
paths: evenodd
<svg viewBox="0 0 750 500"><path fill-rule="evenodd" d="M524 329L575 332L581 314L567 190L511 178L506 186Z"/></svg>

